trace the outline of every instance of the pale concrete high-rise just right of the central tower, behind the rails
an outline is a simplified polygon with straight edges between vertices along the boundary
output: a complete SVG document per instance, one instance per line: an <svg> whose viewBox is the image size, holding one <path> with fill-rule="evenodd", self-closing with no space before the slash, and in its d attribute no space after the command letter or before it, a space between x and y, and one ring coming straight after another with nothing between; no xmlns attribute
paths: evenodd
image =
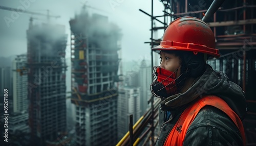
<svg viewBox="0 0 256 146"><path fill-rule="evenodd" d="M118 140L128 131L130 115L133 123L140 118L140 87L125 86L118 90Z"/></svg>

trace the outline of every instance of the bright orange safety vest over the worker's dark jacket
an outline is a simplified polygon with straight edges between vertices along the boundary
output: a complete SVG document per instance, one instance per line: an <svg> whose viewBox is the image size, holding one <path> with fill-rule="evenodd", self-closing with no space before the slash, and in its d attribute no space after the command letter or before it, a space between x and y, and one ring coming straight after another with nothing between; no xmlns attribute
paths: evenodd
<svg viewBox="0 0 256 146"><path fill-rule="evenodd" d="M243 143L245 145L245 133L244 127L239 116L227 105L225 101L215 95L207 95L203 96L197 100L194 104L190 105L185 109L185 111L181 114L177 123L173 127L172 131L170 131L167 139L164 142L164 145L183 145L185 135L188 127L191 125L195 117L201 108L206 105L214 106L223 112L225 112L233 121L234 124L240 130L242 135Z"/></svg>

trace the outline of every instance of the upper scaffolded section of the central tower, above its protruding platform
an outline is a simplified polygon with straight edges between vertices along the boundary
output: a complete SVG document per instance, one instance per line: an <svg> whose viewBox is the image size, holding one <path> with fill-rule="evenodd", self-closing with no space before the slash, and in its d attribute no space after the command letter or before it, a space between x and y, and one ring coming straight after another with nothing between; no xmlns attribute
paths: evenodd
<svg viewBox="0 0 256 146"><path fill-rule="evenodd" d="M96 26L101 21L108 28ZM86 12L70 20L73 99L92 102L94 94L113 90L110 82L117 76L121 35L115 25L105 24L106 21L104 16L90 17ZM111 33L105 33L104 29ZM109 83L101 85L102 82Z"/></svg>

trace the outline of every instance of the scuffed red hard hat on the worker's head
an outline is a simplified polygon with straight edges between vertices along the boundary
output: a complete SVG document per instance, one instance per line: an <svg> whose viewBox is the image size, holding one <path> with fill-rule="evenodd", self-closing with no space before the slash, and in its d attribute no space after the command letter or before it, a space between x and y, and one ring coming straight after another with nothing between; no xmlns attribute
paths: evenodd
<svg viewBox="0 0 256 146"><path fill-rule="evenodd" d="M196 17L180 17L169 23L160 45L152 50L191 51L220 57L215 48L215 37L210 27Z"/></svg>

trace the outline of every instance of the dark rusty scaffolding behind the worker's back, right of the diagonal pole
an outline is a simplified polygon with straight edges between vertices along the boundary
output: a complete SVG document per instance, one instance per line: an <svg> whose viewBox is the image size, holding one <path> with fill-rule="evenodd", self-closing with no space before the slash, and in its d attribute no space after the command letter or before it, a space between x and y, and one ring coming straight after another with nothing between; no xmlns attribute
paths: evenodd
<svg viewBox="0 0 256 146"><path fill-rule="evenodd" d="M256 91L253 88L256 65L255 1L225 1L208 25L216 37L221 57L208 60L214 69L223 71L246 94L247 116L243 120L247 145L256 144ZM253 138L254 137L254 138Z"/></svg>

